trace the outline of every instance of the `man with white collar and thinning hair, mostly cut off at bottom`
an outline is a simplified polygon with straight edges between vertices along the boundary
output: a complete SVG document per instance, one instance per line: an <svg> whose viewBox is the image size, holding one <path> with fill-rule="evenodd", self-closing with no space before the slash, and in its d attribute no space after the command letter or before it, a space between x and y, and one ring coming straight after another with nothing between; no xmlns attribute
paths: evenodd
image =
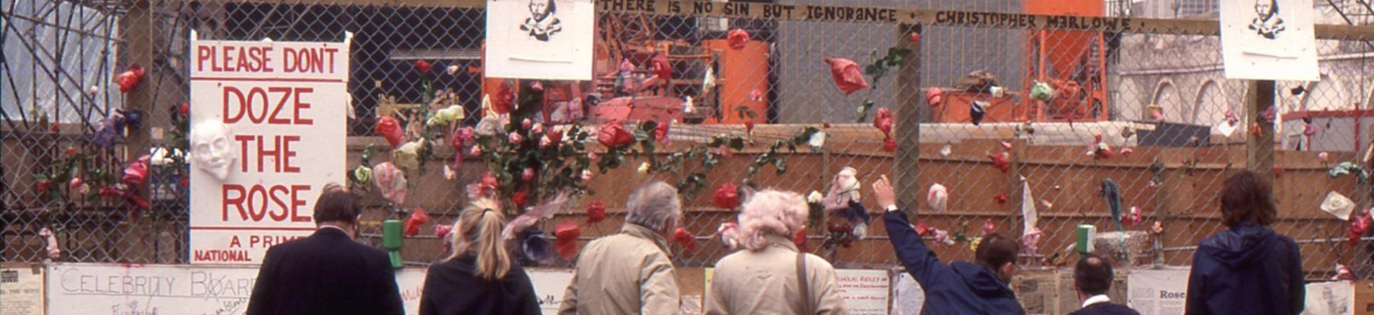
<svg viewBox="0 0 1374 315"><path fill-rule="evenodd" d="M1096 254L1084 254L1073 267L1073 289L1079 292L1083 308L1069 315L1140 315L1107 297L1112 289L1112 263Z"/></svg>

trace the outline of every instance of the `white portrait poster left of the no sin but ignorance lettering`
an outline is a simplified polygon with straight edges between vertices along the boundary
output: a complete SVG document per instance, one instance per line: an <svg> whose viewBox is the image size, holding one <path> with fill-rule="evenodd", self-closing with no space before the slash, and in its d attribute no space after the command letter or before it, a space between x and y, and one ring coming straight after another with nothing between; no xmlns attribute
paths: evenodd
<svg viewBox="0 0 1374 315"><path fill-rule="evenodd" d="M486 0L486 76L591 80L592 0Z"/></svg>

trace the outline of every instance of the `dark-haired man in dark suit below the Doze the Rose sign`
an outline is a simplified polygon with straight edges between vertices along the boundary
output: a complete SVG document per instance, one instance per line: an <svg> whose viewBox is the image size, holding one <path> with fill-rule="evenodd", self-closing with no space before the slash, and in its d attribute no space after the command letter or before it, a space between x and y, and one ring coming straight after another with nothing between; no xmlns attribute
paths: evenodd
<svg viewBox="0 0 1374 315"><path fill-rule="evenodd" d="M360 213L348 188L326 186L315 202L319 230L267 250L247 314L404 314L386 253L353 242Z"/></svg>

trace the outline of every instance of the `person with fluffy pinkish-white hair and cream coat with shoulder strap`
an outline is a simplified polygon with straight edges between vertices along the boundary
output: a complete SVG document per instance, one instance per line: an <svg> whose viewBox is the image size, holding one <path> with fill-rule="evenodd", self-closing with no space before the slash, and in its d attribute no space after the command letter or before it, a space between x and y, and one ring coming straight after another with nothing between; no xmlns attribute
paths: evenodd
<svg viewBox="0 0 1374 315"><path fill-rule="evenodd" d="M764 190L745 202L736 241L746 250L716 263L706 314L848 314L835 268L791 242L805 220L807 201L796 193Z"/></svg>

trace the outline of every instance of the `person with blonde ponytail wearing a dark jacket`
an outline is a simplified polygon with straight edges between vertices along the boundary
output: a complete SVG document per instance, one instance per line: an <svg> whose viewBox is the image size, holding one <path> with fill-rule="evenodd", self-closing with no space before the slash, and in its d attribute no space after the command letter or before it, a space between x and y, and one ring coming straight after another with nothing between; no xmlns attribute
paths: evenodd
<svg viewBox="0 0 1374 315"><path fill-rule="evenodd" d="M420 315L540 314L534 285L503 245L503 221L491 199L458 215L449 232L453 253L425 275Z"/></svg>

